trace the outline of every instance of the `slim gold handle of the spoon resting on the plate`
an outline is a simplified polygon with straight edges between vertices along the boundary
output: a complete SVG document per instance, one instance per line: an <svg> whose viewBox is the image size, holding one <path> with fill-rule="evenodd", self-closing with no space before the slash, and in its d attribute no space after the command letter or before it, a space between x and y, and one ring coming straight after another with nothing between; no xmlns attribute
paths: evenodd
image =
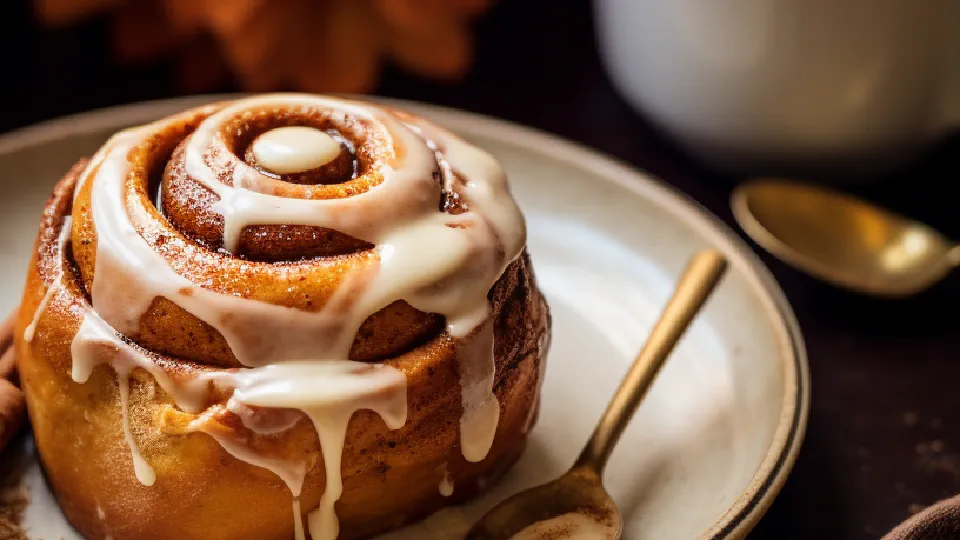
<svg viewBox="0 0 960 540"><path fill-rule="evenodd" d="M586 467L603 476L607 459L637 406L726 269L727 260L714 250L701 251L691 259L680 277L673 298L664 308L660 320L607 405L606 412L577 458L574 468Z"/></svg>

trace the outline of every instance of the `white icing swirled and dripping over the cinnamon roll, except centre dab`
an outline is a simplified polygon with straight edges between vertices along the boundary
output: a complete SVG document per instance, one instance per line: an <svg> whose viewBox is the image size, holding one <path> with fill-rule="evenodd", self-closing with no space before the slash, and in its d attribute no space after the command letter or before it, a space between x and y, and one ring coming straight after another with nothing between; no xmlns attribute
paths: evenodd
<svg viewBox="0 0 960 540"><path fill-rule="evenodd" d="M273 195L270 185L275 180L242 161L233 169L232 185L221 183L205 162L205 158L223 160L230 155L222 148L218 128L244 111L276 107L327 108L334 111L335 119L363 119L377 136L398 148L400 157L384 167L380 185L344 199ZM227 408L241 418L246 418L249 407L298 409L310 418L323 452L326 487L319 507L308 514L308 527L314 540L336 538L339 526L334 504L343 489L340 462L350 418L357 410L370 409L390 429L401 427L406 418L402 373L347 360L360 324L397 300L444 315L448 332L464 338L458 351L464 410L460 443L467 460L482 460L499 421L487 294L526 241L523 218L495 160L426 123L404 123L376 107L339 99L270 95L238 100L207 117L186 144L185 170L219 197L214 209L224 219L227 250L236 248L248 225L270 224L334 229L376 246L380 264L374 275L348 276L323 310L304 312L196 285L179 275L141 237L138 227L147 228L153 218L137 204L125 204L124 183L131 170L127 155L146 135L164 127L161 121L117 134L94 157L75 191L76 196L85 183L93 182L97 253L91 287L95 313L85 314L74 338L73 377L83 382L97 364L113 366L124 436L137 478L150 485L155 475L130 432L131 371L137 367L148 371L177 405L189 412L200 411L213 381L233 390ZM217 148L224 151L210 152ZM438 211L439 190L433 176L438 162L445 186L454 185L455 174L463 179L457 192L467 212L450 215ZM61 236L64 234L69 233ZM186 246L185 256L198 249ZM213 372L192 383L171 380L152 359L116 333L135 335L140 318L157 297L169 299L215 328L249 369ZM104 355L104 345L113 352ZM206 430L201 420L204 416L190 429L208 433L236 458L274 472L287 484L294 496L297 538L302 538L298 497L306 465L257 455ZM244 424L251 427L246 419ZM273 429L282 431L290 425L292 422Z"/></svg>

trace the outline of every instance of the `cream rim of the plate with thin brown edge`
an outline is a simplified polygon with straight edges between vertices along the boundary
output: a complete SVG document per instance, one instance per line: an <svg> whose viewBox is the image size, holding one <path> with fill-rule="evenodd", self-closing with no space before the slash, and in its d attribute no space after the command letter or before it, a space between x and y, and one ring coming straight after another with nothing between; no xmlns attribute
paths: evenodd
<svg viewBox="0 0 960 540"><path fill-rule="evenodd" d="M119 129L149 122L180 110L244 94L205 94L140 101L93 109L21 127L0 135L0 154L9 154L91 131ZM806 433L810 408L810 370L800 326L786 295L749 245L718 216L682 191L619 158L559 135L510 120L417 101L376 95L348 96L422 111L464 134L505 141L578 168L597 172L639 197L646 198L687 223L701 238L721 249L739 266L758 293L765 314L774 322L781 350L783 401L773 440L754 476L740 495L698 540L742 538L759 522L789 476Z"/></svg>

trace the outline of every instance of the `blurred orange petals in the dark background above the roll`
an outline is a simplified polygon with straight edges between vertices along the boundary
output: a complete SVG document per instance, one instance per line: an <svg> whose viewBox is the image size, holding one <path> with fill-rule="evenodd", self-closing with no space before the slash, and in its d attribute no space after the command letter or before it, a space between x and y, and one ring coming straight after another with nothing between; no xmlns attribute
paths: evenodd
<svg viewBox="0 0 960 540"><path fill-rule="evenodd" d="M247 91L368 92L385 59L455 80L470 22L492 0L34 0L50 26L112 13L114 54L172 59L190 91L232 75Z"/></svg>

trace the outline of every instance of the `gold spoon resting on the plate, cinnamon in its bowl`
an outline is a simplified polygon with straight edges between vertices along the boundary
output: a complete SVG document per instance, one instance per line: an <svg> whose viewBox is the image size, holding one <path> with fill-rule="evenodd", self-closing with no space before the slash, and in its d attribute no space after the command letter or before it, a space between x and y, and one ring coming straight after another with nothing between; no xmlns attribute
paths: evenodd
<svg viewBox="0 0 960 540"><path fill-rule="evenodd" d="M693 257L673 298L664 308L573 467L548 484L501 502L470 529L464 540L620 538L623 527L620 512L603 488L607 459L660 367L706 303L726 268L726 259L716 251L702 251Z"/></svg>

